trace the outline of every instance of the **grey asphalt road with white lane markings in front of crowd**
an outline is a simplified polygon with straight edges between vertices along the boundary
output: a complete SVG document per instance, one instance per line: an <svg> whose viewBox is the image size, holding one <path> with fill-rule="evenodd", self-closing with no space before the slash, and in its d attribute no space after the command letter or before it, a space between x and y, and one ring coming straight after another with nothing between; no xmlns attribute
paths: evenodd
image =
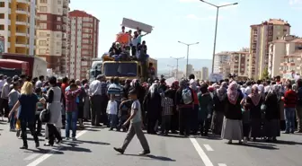
<svg viewBox="0 0 302 166"><path fill-rule="evenodd" d="M8 131L0 121L0 166L300 166L302 135L281 135L278 144L255 142L244 145L227 144L217 137L189 138L147 135L151 155L142 151L135 137L124 155L113 151L126 133L108 128L87 127L77 132L77 141L65 141L55 147L34 148L31 135L28 150L20 150L22 140ZM62 131L64 135L64 132Z"/></svg>

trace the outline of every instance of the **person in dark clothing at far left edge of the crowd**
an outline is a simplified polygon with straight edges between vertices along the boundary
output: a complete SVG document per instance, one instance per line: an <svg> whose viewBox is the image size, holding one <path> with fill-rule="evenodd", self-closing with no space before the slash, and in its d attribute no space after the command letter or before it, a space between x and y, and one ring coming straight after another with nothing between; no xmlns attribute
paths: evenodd
<svg viewBox="0 0 302 166"><path fill-rule="evenodd" d="M10 112L10 109L8 107L8 94L10 92L10 86L11 83L13 82L13 79L11 77L6 78L6 82L4 83L4 86L2 88L2 93L1 93L1 107L0 110L4 110L4 117L7 118L8 114Z"/></svg>

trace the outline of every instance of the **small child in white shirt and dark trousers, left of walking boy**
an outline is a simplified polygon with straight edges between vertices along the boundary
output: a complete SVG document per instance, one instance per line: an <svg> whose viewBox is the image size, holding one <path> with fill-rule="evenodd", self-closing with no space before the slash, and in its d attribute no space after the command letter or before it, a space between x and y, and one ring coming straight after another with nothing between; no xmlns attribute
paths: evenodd
<svg viewBox="0 0 302 166"><path fill-rule="evenodd" d="M114 100L114 94L111 94L111 100L108 101L107 110L108 118L110 121L110 129L118 127L118 102ZM118 129L118 128L117 128Z"/></svg>

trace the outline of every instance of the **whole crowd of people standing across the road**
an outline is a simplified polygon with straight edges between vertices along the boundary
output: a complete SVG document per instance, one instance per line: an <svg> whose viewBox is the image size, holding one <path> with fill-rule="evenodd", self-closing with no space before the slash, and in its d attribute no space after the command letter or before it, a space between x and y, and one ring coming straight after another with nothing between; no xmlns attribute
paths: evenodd
<svg viewBox="0 0 302 166"><path fill-rule="evenodd" d="M150 153L142 128L151 135L182 136L221 135L229 144L264 139L275 142L280 136L283 119L285 133L302 132L302 80L218 83L203 82L191 74L189 79L168 86L164 78L147 83L119 77L106 80L98 75L92 83L44 76L13 78L0 75L0 113L9 119L10 131L22 137L27 149L26 129L33 135L36 147L45 125L46 146L66 139L76 140L76 129L84 129L84 121L93 127L128 132L124 144L114 148L124 153L134 135L144 151ZM79 127L77 127L77 122Z"/></svg>

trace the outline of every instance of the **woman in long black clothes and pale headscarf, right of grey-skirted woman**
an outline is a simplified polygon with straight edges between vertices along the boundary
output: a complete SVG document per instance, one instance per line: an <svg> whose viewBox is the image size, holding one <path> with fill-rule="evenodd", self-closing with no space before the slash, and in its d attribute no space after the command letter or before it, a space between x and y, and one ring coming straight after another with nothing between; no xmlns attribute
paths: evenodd
<svg viewBox="0 0 302 166"><path fill-rule="evenodd" d="M258 86L254 84L252 86L251 94L249 94L245 103L249 106L250 110L250 120L251 120L251 133L250 136L253 137L253 141L257 137L261 137L261 126L262 126L262 96L259 93Z"/></svg>

